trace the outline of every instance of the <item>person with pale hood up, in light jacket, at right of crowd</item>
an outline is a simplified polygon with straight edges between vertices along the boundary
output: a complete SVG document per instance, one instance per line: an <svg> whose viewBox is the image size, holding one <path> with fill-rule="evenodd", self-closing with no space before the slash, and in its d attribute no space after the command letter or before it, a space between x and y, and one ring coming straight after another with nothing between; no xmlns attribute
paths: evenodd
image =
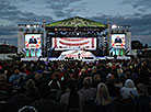
<svg viewBox="0 0 151 112"><path fill-rule="evenodd" d="M131 79L125 81L125 87L120 89L120 96L123 99L129 99L131 96L138 97L137 88Z"/></svg>

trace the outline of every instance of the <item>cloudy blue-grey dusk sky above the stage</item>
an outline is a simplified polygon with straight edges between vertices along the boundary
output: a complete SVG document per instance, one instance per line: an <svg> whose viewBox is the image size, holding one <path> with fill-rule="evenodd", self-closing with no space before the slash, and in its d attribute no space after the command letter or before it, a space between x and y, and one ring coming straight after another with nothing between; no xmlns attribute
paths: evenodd
<svg viewBox="0 0 151 112"><path fill-rule="evenodd" d="M151 0L0 0L0 43L16 45L18 24L72 16L131 25L132 40L151 45Z"/></svg>

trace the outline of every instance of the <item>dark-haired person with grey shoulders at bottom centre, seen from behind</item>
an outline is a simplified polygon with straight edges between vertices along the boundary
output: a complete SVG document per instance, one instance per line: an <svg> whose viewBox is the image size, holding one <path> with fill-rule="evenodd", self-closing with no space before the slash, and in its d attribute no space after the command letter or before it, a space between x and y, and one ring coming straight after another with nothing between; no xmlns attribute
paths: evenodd
<svg viewBox="0 0 151 112"><path fill-rule="evenodd" d="M78 93L77 83L73 80L68 80L67 92L61 96L60 103L65 107L65 112L72 110L83 112L83 96Z"/></svg>

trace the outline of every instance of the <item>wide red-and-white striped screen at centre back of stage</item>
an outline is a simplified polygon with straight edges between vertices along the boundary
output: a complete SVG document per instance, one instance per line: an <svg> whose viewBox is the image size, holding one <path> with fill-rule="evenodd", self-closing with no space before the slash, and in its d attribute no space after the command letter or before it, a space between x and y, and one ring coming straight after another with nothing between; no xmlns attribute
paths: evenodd
<svg viewBox="0 0 151 112"><path fill-rule="evenodd" d="M55 51L96 49L96 37L53 37L51 47Z"/></svg>

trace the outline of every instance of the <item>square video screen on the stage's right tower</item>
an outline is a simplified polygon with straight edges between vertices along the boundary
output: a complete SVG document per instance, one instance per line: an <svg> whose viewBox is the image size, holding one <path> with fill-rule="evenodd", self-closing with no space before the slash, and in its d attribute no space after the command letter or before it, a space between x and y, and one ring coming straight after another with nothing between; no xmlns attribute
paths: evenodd
<svg viewBox="0 0 151 112"><path fill-rule="evenodd" d="M125 34L112 34L112 47L125 48Z"/></svg>

